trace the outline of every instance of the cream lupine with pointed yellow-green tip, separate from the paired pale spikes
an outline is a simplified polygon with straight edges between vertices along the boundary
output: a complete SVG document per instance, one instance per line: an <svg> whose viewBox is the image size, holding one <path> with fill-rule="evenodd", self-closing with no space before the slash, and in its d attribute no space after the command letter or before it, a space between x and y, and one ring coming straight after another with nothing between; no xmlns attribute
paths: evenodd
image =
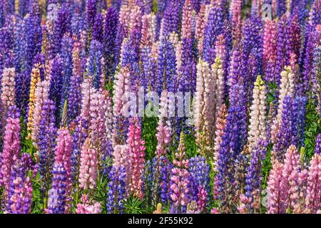
<svg viewBox="0 0 321 228"><path fill-rule="evenodd" d="M253 88L253 103L250 107L250 127L248 133L248 149L252 152L259 138L266 140L266 91L265 83L258 76Z"/></svg>

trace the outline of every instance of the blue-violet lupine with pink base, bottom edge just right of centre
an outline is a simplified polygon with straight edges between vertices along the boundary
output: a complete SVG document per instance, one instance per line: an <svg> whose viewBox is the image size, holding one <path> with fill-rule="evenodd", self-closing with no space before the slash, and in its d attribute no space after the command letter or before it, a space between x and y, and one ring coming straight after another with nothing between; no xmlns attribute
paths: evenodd
<svg viewBox="0 0 321 228"><path fill-rule="evenodd" d="M210 166L205 157L199 155L190 158L188 171L192 199L198 202L200 212L205 212L210 199Z"/></svg>

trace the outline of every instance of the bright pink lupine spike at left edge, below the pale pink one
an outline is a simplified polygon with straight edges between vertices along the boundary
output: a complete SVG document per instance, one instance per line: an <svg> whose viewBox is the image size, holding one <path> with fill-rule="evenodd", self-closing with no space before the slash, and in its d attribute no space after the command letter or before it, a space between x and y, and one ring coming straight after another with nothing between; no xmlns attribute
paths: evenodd
<svg viewBox="0 0 321 228"><path fill-rule="evenodd" d="M12 106L11 106L12 107ZM20 119L16 113L16 107L12 107L10 113L13 115L6 119L6 127L4 129L4 144L0 155L0 186L5 190L9 189L9 179L12 166L19 157L20 152ZM18 114L18 116L17 116ZM6 192L4 193L6 195Z"/></svg>

